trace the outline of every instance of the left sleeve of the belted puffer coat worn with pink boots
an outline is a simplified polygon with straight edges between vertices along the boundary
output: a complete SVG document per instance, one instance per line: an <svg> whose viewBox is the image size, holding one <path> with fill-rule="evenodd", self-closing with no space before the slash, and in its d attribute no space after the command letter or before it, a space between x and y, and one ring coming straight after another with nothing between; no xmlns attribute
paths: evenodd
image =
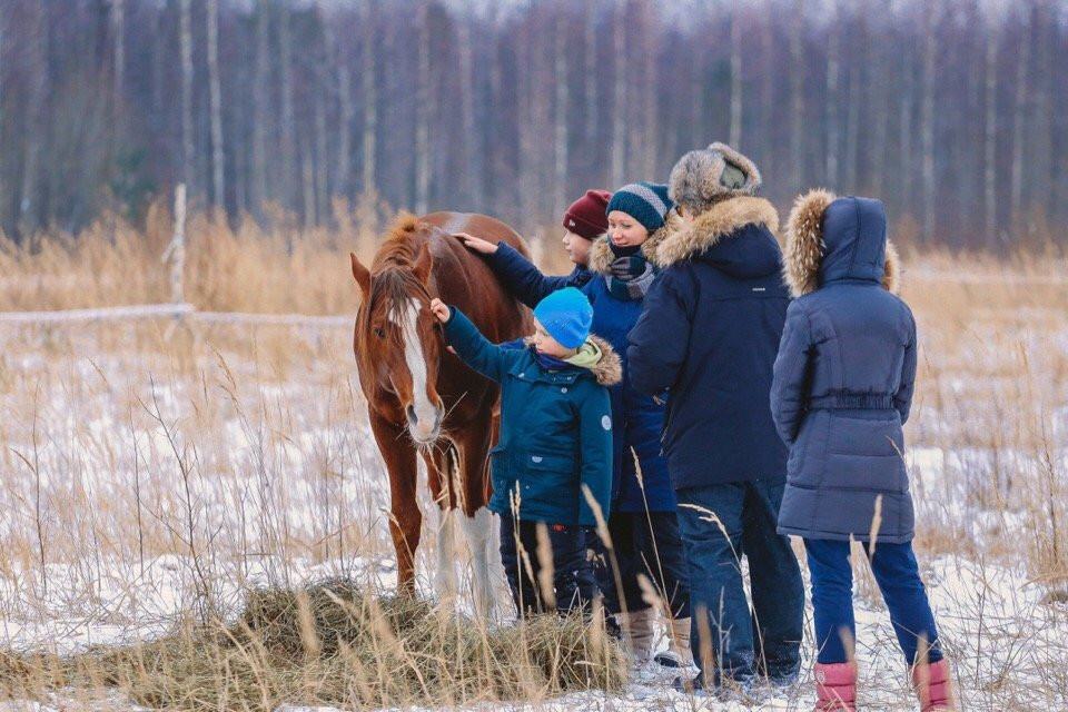
<svg viewBox="0 0 1068 712"><path fill-rule="evenodd" d="M793 445L808 407L812 377L812 324L798 301L787 309L787 323L779 343L771 382L771 416L779 437Z"/></svg>

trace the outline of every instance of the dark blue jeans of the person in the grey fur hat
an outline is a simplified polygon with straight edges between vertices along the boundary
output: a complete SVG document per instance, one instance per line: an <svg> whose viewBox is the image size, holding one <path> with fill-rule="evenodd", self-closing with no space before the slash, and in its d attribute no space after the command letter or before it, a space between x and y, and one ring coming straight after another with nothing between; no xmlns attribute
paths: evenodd
<svg viewBox="0 0 1068 712"><path fill-rule="evenodd" d="M702 684L724 678L745 682L756 674L784 681L801 665L801 570L790 540L775 532L783 487L783 482L755 481L676 493L690 568L690 640ZM742 586L743 555L752 611Z"/></svg>

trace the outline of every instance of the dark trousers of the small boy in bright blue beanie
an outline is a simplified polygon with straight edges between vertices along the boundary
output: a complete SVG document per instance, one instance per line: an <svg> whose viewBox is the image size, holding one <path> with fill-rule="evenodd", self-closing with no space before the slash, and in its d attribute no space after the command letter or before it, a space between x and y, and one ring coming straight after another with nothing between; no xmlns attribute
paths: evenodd
<svg viewBox="0 0 1068 712"><path fill-rule="evenodd" d="M512 590L515 610L521 616L550 613L553 610L566 615L573 611L590 613L596 584L593 568L586 557L586 527L564 524L543 524L552 550L553 595L555 609L550 607L540 584L543 562L537 555L537 522L520 522L518 527L510 514L501 515L501 562ZM516 536L518 534L518 536ZM518 546L516 545L518 538ZM530 571L526 562L530 561ZM533 573L533 578L531 574Z"/></svg>

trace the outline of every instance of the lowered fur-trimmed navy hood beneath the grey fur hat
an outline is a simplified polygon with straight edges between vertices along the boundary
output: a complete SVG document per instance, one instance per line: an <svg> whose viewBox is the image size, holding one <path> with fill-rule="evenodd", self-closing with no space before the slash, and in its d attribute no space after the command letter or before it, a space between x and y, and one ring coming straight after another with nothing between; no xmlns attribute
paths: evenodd
<svg viewBox="0 0 1068 712"><path fill-rule="evenodd" d="M741 278L760 277L781 268L781 250L774 238L779 214L764 198L729 198L689 225L673 218L668 228L654 249L645 250L660 267L700 259ZM742 235L755 239L734 239Z"/></svg>

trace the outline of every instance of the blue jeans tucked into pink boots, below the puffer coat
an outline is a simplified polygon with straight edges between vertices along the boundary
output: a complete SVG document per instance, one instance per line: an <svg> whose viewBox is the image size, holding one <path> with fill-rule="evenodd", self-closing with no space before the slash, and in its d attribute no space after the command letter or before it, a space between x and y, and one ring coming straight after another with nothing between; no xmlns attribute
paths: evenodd
<svg viewBox="0 0 1068 712"><path fill-rule="evenodd" d="M817 660L843 663L849 659L846 642L857 640L853 622L853 570L849 564L849 542L804 540L812 577L812 613L815 619ZM864 552L870 547L864 544ZM876 583L890 611L890 622L906 661L912 665L938 662L942 651L934 630L934 615L920 580L912 543L876 543L876 554L868 554ZM921 640L924 650L920 650Z"/></svg>

